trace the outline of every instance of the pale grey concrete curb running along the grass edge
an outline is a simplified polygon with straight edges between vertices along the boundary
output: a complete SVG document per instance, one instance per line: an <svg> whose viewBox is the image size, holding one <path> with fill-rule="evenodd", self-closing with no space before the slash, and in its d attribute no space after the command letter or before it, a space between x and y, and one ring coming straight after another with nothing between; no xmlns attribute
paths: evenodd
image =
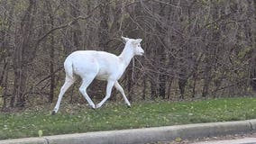
<svg viewBox="0 0 256 144"><path fill-rule="evenodd" d="M0 140L0 144L129 144L256 132L256 119Z"/></svg>

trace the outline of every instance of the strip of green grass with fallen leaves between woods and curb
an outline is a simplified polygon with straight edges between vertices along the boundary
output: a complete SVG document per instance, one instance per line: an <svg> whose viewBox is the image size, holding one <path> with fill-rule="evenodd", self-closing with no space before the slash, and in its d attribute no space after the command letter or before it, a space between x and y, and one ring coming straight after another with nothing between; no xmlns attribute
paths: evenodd
<svg viewBox="0 0 256 144"><path fill-rule="evenodd" d="M96 130L122 130L198 122L239 121L256 118L256 98L230 98L197 102L142 102L126 108L110 103L96 111L86 106L53 105L23 112L0 113L0 139L38 137Z"/></svg>

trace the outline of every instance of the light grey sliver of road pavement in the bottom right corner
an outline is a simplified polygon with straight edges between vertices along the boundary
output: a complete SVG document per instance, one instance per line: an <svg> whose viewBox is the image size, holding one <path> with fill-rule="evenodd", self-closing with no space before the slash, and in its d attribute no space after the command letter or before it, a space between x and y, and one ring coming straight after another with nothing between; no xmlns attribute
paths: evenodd
<svg viewBox="0 0 256 144"><path fill-rule="evenodd" d="M193 144L256 144L256 138L203 141L203 142L196 142Z"/></svg>

